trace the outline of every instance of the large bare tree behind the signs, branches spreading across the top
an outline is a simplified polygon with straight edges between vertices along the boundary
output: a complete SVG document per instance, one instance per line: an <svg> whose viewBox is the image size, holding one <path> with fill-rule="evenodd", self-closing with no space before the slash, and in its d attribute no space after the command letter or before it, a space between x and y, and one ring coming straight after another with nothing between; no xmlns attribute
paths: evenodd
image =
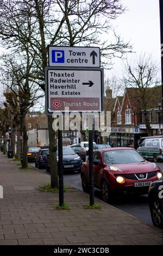
<svg viewBox="0 0 163 256"><path fill-rule="evenodd" d="M29 80L45 90L48 45L101 46L105 68L110 67L112 57L122 57L131 51L129 43L116 33L115 42L101 40L102 33L111 31L110 21L123 11L119 0L0 0L0 36L3 45L13 51L17 51L24 39L28 41L36 67ZM57 145L52 123L52 117L48 117L51 186L57 187Z"/></svg>

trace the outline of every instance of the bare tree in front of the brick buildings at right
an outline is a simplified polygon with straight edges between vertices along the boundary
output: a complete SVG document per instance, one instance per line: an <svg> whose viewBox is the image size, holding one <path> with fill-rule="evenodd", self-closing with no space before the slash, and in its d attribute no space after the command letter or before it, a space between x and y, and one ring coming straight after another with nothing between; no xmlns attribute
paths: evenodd
<svg viewBox="0 0 163 256"><path fill-rule="evenodd" d="M153 61L152 56L147 56L146 53L141 54L139 58L133 60L134 64L129 64L127 61L125 65L124 76L122 84L125 87L135 88L133 91L133 99L137 102L137 112L145 114L145 123L148 135L152 135L152 130L147 111L154 101L156 101L155 94L156 84L158 84L158 65Z"/></svg>

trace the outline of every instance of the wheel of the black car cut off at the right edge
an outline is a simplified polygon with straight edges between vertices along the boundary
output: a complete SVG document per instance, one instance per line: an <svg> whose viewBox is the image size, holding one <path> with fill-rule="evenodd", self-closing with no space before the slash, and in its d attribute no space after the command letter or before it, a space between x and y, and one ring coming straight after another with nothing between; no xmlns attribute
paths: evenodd
<svg viewBox="0 0 163 256"><path fill-rule="evenodd" d="M152 199L152 209L151 209L152 221L155 227L162 227L162 212L161 204L157 196Z"/></svg>

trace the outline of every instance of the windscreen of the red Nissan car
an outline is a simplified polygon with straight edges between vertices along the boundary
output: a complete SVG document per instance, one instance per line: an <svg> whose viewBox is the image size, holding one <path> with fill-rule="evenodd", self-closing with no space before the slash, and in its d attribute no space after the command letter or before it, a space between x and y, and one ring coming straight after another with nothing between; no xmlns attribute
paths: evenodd
<svg viewBox="0 0 163 256"><path fill-rule="evenodd" d="M106 164L140 163L145 161L139 153L129 149L105 151L103 160Z"/></svg>

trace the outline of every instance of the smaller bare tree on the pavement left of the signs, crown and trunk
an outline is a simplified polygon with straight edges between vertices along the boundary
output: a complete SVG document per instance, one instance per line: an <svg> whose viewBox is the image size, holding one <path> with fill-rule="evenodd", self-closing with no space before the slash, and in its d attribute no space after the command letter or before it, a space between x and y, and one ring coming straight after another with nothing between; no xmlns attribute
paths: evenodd
<svg viewBox="0 0 163 256"><path fill-rule="evenodd" d="M25 56L25 57L24 57ZM17 56L14 56L17 59ZM13 56L12 56L13 58ZM5 88L9 88L10 92L15 96L12 97L12 100L17 99L17 105L19 105L20 109L20 125L22 131L23 138L23 147L22 147L22 168L27 167L27 129L26 129L26 114L29 112L30 107L34 105L34 102L42 96L39 92L39 87L36 89L36 84L34 82L29 81L29 74L32 70L33 59L28 54L28 50L23 52L23 56L21 54L18 55L18 63L13 60L11 57L7 58L5 56L3 58L2 64L2 74L3 80L2 84ZM6 97L9 97L7 93L5 93ZM10 102L14 104L13 102ZM16 104L16 103L15 103ZM13 107L13 105L12 105ZM13 109L11 107L11 113ZM9 108L10 109L10 108Z"/></svg>

